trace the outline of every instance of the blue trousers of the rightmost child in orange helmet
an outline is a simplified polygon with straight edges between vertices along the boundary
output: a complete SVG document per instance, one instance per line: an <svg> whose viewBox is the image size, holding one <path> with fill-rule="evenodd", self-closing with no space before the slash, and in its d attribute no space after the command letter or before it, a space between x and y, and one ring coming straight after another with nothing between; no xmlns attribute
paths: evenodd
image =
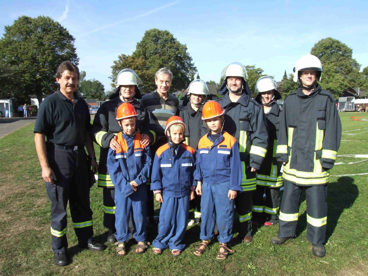
<svg viewBox="0 0 368 276"><path fill-rule="evenodd" d="M201 240L210 240L215 235L215 224L219 227L220 243L228 243L233 237L234 200L230 200L229 182L210 184L202 183L201 198Z"/></svg>

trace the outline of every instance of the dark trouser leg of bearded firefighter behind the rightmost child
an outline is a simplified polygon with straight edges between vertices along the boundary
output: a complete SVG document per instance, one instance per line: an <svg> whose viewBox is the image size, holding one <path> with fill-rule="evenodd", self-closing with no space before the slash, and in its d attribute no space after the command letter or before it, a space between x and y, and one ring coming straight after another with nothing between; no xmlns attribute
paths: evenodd
<svg viewBox="0 0 368 276"><path fill-rule="evenodd" d="M235 198L236 212L239 219L239 237L252 234L252 195L253 191L239 192Z"/></svg>

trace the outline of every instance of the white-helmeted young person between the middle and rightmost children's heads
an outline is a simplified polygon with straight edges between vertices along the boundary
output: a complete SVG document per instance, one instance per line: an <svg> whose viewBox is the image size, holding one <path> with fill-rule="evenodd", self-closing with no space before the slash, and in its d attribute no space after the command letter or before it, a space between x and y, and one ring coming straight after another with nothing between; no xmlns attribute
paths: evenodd
<svg viewBox="0 0 368 276"><path fill-rule="evenodd" d="M206 102L208 87L202 79L195 79L187 88L189 102L180 110L179 116L187 125L185 130L185 143L197 150L199 139L201 139L202 107ZM188 226L192 226L195 220L201 218L201 196L195 197L189 203Z"/></svg>

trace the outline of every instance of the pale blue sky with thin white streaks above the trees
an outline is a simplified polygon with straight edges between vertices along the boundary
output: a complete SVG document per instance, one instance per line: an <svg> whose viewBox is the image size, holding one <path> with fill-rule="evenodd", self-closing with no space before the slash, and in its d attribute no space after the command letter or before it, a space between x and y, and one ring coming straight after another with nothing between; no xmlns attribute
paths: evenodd
<svg viewBox="0 0 368 276"><path fill-rule="evenodd" d="M199 75L218 82L233 61L279 81L322 38L339 39L368 66L368 1L5 1L1 36L21 15L50 16L75 38L79 70L110 89L111 66L144 32L166 29L188 47ZM152 76L153 78L153 76ZM175 76L173 82L175 81Z"/></svg>

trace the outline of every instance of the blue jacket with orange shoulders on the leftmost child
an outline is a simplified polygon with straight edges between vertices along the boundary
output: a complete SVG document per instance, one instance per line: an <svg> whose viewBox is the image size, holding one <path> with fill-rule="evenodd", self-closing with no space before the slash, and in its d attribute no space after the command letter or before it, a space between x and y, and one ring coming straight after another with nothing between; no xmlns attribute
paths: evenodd
<svg viewBox="0 0 368 276"><path fill-rule="evenodd" d="M127 136L122 132L117 134L120 149L114 151L109 148L107 167L114 187L127 197L132 194L130 181L138 186L146 184L151 169L151 151L149 146L141 145L141 134Z"/></svg>

